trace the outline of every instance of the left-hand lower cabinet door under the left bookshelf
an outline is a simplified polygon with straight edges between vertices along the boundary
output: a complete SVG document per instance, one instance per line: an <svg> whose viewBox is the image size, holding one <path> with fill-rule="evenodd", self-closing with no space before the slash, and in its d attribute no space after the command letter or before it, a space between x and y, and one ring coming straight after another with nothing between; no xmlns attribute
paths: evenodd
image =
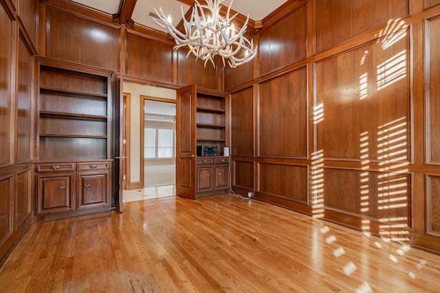
<svg viewBox="0 0 440 293"><path fill-rule="evenodd" d="M72 174L52 174L36 177L37 214L72 211L72 177Z"/></svg>

